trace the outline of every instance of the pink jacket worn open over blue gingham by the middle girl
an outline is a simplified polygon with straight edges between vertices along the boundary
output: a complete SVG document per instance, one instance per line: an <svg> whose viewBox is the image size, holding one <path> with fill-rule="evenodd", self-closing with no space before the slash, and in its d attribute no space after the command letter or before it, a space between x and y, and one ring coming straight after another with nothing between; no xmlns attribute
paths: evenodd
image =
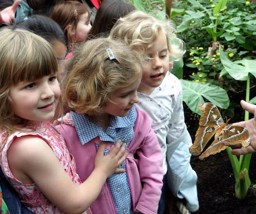
<svg viewBox="0 0 256 214"><path fill-rule="evenodd" d="M163 186L163 155L146 113L137 109L136 111L135 136L129 143L127 148L129 155L126 158L132 208L144 214L155 214ZM93 171L97 153L96 143L100 143L100 138L96 137L81 145L70 113L63 118L63 124L57 125L56 128L65 138L68 150L75 157L78 175L82 181L85 181ZM108 143L106 148L109 149L111 146L113 145ZM107 182L99 197L92 203L91 210L93 214L116 214Z"/></svg>

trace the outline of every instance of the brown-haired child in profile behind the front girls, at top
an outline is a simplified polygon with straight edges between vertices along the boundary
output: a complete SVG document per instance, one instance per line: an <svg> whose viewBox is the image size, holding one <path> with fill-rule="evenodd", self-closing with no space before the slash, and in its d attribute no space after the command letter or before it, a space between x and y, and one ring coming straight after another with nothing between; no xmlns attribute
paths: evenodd
<svg viewBox="0 0 256 214"><path fill-rule="evenodd" d="M64 32L68 43L68 52L73 50L75 44L86 41L92 26L90 8L85 4L78 1L65 1L56 4L50 17L60 25Z"/></svg>

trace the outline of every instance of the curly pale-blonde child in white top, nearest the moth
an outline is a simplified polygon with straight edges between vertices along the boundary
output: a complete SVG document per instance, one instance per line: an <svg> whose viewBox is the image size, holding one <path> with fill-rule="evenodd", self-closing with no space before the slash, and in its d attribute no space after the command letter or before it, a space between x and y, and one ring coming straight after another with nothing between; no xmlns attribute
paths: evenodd
<svg viewBox="0 0 256 214"><path fill-rule="evenodd" d="M197 175L190 166L191 137L184 122L183 94L178 78L169 72L169 57L183 57L183 41L176 38L173 24L144 12L133 11L115 23L111 38L144 49L148 61L143 66L136 107L150 117L163 152L164 187L159 213L165 210L165 179L175 197L186 200L186 208L199 208ZM167 173L167 174L166 174ZM180 202L179 202L180 203Z"/></svg>

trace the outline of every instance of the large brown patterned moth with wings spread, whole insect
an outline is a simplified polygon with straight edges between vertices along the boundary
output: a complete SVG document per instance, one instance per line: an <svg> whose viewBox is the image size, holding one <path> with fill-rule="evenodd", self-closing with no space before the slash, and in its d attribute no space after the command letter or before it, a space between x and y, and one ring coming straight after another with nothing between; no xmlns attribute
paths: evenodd
<svg viewBox="0 0 256 214"><path fill-rule="evenodd" d="M195 134L195 141L190 147L192 155L200 155L199 159L215 155L225 150L228 146L240 144L249 146L249 132L241 126L225 123L218 108L210 102L199 104L198 109L203 113L199 120L199 128ZM203 152L205 146L214 136L214 141ZM203 152L203 153L201 153Z"/></svg>

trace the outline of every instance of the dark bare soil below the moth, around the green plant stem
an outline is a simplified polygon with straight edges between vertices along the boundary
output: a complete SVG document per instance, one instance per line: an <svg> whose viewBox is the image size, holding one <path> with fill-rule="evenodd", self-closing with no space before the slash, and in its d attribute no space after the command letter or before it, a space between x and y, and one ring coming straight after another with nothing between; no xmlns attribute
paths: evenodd
<svg viewBox="0 0 256 214"><path fill-rule="evenodd" d="M252 155L249 177L252 185L256 181L256 154ZM201 161L193 157L191 165L198 173L199 211L196 214L255 214L256 192L249 188L247 197L234 197L235 178L228 154L222 151Z"/></svg>

